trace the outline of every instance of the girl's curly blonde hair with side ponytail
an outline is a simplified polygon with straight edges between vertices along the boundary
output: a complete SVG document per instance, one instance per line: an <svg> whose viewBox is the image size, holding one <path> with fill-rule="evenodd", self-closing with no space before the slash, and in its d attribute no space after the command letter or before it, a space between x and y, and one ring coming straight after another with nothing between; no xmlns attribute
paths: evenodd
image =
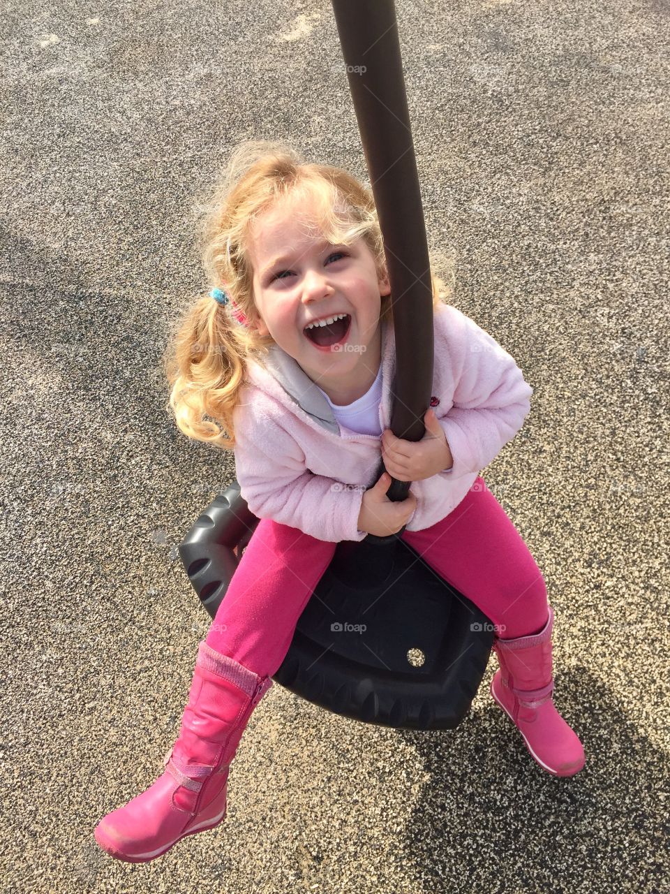
<svg viewBox="0 0 670 894"><path fill-rule="evenodd" d="M232 450L233 413L246 381L247 361L262 358L274 343L253 324L255 307L249 244L255 220L284 198L311 199L319 231L333 244L362 238L372 251L379 279L388 276L372 192L351 174L326 164L306 164L289 144L247 140L232 153L205 205L200 227L202 260L211 288L225 290L247 317L240 325L228 306L206 295L191 299L172 325L163 369L172 387L172 408L183 434ZM432 267L432 263L431 263ZM432 273L433 308L451 286ZM390 295L381 298L381 320L392 324ZM205 417L209 417L206 419ZM222 427L221 427L222 426ZM226 434L228 433L228 437Z"/></svg>

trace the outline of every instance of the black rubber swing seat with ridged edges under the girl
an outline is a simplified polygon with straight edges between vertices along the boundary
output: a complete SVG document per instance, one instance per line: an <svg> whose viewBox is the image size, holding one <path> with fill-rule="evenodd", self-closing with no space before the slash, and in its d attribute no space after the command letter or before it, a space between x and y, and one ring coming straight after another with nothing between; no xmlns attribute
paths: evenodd
<svg viewBox="0 0 670 894"><path fill-rule="evenodd" d="M257 524L233 481L180 544L188 578L212 618ZM352 720L454 729L486 670L490 619L399 537L388 578L373 582L368 569L368 586L348 586L341 577L348 578L359 545L336 547L272 679Z"/></svg>

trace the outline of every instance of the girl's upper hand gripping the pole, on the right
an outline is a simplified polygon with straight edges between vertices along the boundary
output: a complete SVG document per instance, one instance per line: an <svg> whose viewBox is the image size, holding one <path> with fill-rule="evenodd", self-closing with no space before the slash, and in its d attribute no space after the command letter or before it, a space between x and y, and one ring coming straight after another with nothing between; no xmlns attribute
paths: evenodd
<svg viewBox="0 0 670 894"><path fill-rule="evenodd" d="M430 407L423 425L426 431L421 441L397 438L390 428L381 435L381 458L389 475L398 481L423 481L453 464L447 436Z"/></svg>

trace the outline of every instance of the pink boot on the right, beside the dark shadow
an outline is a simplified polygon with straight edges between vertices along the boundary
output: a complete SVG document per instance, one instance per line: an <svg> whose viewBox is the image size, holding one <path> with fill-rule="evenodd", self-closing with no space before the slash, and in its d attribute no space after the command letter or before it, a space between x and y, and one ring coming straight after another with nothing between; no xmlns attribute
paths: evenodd
<svg viewBox="0 0 670 894"><path fill-rule="evenodd" d="M500 639L493 649L500 667L493 675L490 694L515 726L532 757L554 776L574 776L584 765L584 749L552 701L554 678L551 629L554 611L540 633Z"/></svg>

